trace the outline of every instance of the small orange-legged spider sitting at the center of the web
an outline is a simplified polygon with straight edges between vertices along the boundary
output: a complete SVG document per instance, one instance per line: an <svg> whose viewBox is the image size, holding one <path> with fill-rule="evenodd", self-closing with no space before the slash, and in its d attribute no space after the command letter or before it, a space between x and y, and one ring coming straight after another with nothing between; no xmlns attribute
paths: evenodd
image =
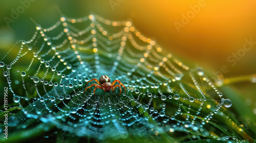
<svg viewBox="0 0 256 143"><path fill-rule="evenodd" d="M125 86L124 86L119 80L114 80L112 83L110 83L110 78L109 78L108 76L103 75L103 76L101 76L101 77L99 78L99 80L97 80L97 79L92 79L92 80L90 80L89 82L91 82L91 81L96 81L98 84L94 83L94 84L88 86L88 87L84 90L84 92L86 92L86 90L87 90L88 88L95 86L95 88L94 88L94 90L93 90L94 96L95 96L95 90L96 90L97 88L103 89L104 92L111 92L111 89L112 89L112 92L113 92L116 87L119 87L119 89L120 89L119 95L120 95L121 92L122 92L121 86L123 86L123 87L124 87L124 90L125 90L125 93L126 93L126 88L125 88ZM88 83L89 83L89 82L88 82ZM118 82L121 86L120 86L119 84L114 85L116 82ZM88 83L87 83L87 84L88 84ZM86 84L86 86L87 86L87 84Z"/></svg>

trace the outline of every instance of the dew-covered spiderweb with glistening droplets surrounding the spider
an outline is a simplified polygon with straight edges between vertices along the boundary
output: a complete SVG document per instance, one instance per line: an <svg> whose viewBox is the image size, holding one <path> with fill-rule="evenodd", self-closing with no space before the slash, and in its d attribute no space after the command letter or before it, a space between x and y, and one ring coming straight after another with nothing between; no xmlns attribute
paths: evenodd
<svg viewBox="0 0 256 143"><path fill-rule="evenodd" d="M30 40L16 45L16 58L5 60L16 54L11 50L0 66L13 101L24 107L16 114L23 118L14 118L23 128L35 118L98 139L176 131L194 139L231 136L228 131L212 133L217 127L211 120L218 120L216 114L228 118L221 110L232 102L201 67L166 53L131 21L62 16L52 27L37 25ZM120 95L119 89L84 92L86 83L101 75L120 80L126 93L124 88Z"/></svg>

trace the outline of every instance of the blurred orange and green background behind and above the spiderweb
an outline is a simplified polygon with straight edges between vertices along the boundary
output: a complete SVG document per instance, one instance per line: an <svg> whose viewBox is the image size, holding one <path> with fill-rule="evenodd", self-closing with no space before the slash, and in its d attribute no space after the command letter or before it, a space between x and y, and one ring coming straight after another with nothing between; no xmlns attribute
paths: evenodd
<svg viewBox="0 0 256 143"><path fill-rule="evenodd" d="M224 78L256 74L256 44L239 59L229 56L243 49L245 39L256 41L255 1L204 1L205 7L177 30L174 22L182 22L191 7L200 1L1 1L0 2L0 59L17 40L30 39L35 31L33 18L42 27L50 27L59 20L58 7L68 17L97 14L110 20L131 19L133 25L147 37L158 41L165 51L184 60L193 60L207 70L217 72L222 66L228 68ZM21 7L27 8L24 10ZM21 11L15 19L13 11ZM8 18L7 18L8 17ZM8 57L12 61L14 55ZM0 71L3 74L3 71ZM244 102L256 114L255 83L246 78L232 84L244 97ZM4 79L1 79L4 81ZM243 81L244 80L244 81ZM7 86L1 82L1 87ZM1 88L2 89L2 88ZM239 104L239 103L233 103Z"/></svg>

